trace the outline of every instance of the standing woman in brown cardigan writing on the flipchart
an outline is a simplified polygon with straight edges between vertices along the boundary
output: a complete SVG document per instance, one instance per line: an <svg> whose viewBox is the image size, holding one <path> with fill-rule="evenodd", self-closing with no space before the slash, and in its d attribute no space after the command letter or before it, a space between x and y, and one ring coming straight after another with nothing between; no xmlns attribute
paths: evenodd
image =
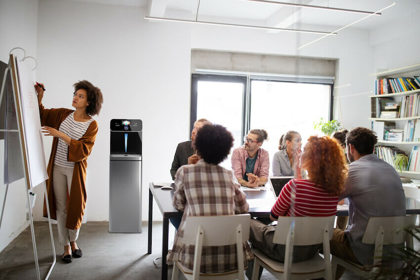
<svg viewBox="0 0 420 280"><path fill-rule="evenodd" d="M74 87L72 106L76 110L44 109L45 87L42 83L36 85L42 132L54 137L46 186L51 218L57 220L60 244L64 246L64 263L71 263L72 256L82 257L76 240L86 205L86 160L98 132L98 124L91 116L99 114L103 102L101 90L89 81L79 81Z"/></svg>

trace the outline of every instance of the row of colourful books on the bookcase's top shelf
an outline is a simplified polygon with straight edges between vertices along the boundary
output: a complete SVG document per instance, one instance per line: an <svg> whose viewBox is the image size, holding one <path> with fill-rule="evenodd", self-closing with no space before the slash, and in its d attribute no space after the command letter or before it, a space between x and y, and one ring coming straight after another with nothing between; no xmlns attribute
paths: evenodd
<svg viewBox="0 0 420 280"><path fill-rule="evenodd" d="M378 79L375 83L375 94L397 93L409 90L420 89L420 78L415 76L401 78Z"/></svg>

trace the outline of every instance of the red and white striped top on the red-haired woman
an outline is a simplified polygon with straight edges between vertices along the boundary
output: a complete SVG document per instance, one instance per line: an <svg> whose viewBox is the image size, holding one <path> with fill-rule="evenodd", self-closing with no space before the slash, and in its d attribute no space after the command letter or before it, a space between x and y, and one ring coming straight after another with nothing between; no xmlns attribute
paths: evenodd
<svg viewBox="0 0 420 280"><path fill-rule="evenodd" d="M294 203L292 203L293 200ZM307 179L292 179L280 192L276 203L271 208L271 215L274 218L279 216L328 217L336 215L337 203L338 196L327 193L321 186Z"/></svg>

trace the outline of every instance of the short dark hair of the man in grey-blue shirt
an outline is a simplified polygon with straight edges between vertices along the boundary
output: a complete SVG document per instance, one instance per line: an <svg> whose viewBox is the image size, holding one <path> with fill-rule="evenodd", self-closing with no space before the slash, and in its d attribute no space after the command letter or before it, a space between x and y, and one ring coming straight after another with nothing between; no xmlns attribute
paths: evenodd
<svg viewBox="0 0 420 280"><path fill-rule="evenodd" d="M374 131L366 127L356 127L347 133L345 142L353 145L361 156L365 156L374 152L374 146L378 142L378 138Z"/></svg>

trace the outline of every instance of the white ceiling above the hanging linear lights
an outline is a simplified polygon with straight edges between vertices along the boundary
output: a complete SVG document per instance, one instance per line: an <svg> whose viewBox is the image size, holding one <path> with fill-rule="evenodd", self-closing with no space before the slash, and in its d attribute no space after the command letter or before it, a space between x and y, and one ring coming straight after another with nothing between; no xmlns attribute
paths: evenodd
<svg viewBox="0 0 420 280"><path fill-rule="evenodd" d="M150 16L175 17L195 20L200 1L198 20L261 25L280 28L296 28L296 25L317 25L343 27L366 14L343 11L297 8L274 3L247 0L76 0L103 4L141 6L150 11ZM353 28L374 29L408 14L420 16L420 0L277 0L307 5L329 6L376 12L393 2L395 5L384 10L381 16L371 16ZM176 16L174 16L176 15ZM248 23L247 23L248 22ZM418 27L413 27L417 30Z"/></svg>

